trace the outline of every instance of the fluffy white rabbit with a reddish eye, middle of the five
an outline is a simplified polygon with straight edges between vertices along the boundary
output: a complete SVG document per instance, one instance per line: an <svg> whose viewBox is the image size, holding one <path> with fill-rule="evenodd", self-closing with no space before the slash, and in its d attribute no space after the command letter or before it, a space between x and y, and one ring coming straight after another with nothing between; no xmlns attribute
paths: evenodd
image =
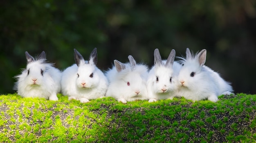
<svg viewBox="0 0 256 143"><path fill-rule="evenodd" d="M110 82L106 96L113 97L124 104L127 101L147 100L148 67L136 64L131 55L128 56L128 59L130 63L121 63L115 60L115 66L106 72Z"/></svg>

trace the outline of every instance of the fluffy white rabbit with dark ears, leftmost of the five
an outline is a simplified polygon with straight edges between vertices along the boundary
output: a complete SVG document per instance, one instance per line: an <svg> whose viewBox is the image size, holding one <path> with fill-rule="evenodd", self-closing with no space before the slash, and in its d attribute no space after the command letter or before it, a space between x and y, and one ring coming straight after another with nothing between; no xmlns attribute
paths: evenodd
<svg viewBox="0 0 256 143"><path fill-rule="evenodd" d="M22 97L38 97L49 100L58 100L57 93L61 91L61 71L46 63L43 51L35 60L25 52L27 67L16 78L14 89Z"/></svg>

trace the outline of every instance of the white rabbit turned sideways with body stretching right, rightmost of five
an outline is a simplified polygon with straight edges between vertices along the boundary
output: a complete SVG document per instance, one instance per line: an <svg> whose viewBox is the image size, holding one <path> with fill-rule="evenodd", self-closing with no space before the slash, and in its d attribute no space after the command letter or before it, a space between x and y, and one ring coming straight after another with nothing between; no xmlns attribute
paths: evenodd
<svg viewBox="0 0 256 143"><path fill-rule="evenodd" d="M182 68L178 76L180 86L177 95L193 101L208 99L216 102L219 95L229 95L233 92L229 82L204 65L206 61L205 49L193 55L187 48L186 59L179 58Z"/></svg>

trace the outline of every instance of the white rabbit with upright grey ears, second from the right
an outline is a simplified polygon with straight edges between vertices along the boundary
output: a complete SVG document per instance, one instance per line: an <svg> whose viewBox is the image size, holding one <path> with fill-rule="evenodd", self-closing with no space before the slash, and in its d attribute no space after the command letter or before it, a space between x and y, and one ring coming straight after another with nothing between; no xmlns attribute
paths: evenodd
<svg viewBox="0 0 256 143"><path fill-rule="evenodd" d="M178 88L177 75L181 65L174 62L175 50L172 50L167 60L162 61L158 49L154 51L154 66L150 69L147 80L148 102L161 99L173 99Z"/></svg>

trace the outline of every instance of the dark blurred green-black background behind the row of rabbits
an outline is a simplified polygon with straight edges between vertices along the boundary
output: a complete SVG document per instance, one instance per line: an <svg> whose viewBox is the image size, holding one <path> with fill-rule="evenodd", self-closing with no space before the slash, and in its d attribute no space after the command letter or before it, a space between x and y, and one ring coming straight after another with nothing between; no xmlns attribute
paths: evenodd
<svg viewBox="0 0 256 143"><path fill-rule="evenodd" d="M87 59L95 47L102 70L128 55L151 66L155 48L162 58L207 49L235 93L256 94L255 0L1 0L0 94L15 92L25 51L63 70L74 48Z"/></svg>

